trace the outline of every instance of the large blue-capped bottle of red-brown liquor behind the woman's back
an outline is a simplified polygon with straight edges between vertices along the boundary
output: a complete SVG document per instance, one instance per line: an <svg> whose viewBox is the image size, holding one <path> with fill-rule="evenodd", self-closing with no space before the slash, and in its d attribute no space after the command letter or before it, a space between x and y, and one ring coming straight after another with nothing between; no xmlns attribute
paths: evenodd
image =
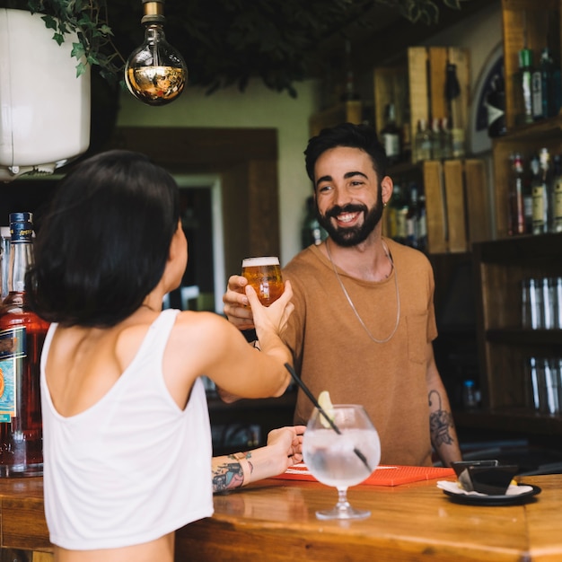
<svg viewBox="0 0 562 562"><path fill-rule="evenodd" d="M43 470L40 354L48 322L25 297L25 273L33 263L31 213L12 213L10 230L10 292L0 313L0 476L37 476Z"/></svg>

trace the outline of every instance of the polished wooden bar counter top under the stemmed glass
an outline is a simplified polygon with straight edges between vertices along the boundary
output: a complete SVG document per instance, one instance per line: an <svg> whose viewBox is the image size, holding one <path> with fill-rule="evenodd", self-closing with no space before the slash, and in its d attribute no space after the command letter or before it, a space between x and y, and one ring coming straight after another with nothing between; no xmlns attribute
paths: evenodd
<svg viewBox="0 0 562 562"><path fill-rule="evenodd" d="M176 533L178 562L559 562L562 561L562 475L525 477L542 489L526 505L453 504L436 480L349 490L371 517L321 522L317 509L336 491L316 482L268 479L215 496L213 517ZM50 559L42 479L0 479L1 546ZM154 561L157 562L157 561Z"/></svg>

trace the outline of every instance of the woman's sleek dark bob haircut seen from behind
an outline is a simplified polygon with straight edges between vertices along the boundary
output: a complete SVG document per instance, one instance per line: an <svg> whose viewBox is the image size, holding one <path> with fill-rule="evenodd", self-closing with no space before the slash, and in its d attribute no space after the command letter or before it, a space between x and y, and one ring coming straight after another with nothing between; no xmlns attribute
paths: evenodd
<svg viewBox="0 0 562 562"><path fill-rule="evenodd" d="M112 150L78 164L40 224L32 310L65 326L125 320L160 281L179 218L175 180L144 154Z"/></svg>

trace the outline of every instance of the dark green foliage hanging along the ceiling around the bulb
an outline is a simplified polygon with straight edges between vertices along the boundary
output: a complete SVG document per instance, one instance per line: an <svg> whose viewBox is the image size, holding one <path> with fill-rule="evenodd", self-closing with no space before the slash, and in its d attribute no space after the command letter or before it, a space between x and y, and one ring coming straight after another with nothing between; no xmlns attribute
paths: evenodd
<svg viewBox="0 0 562 562"><path fill-rule="evenodd" d="M310 77L322 40L376 4L396 9L410 22L432 23L440 6L460 9L470 0L168 0L166 37L188 61L189 83L214 92L253 76L268 88L296 95L294 83ZM41 13L53 40L69 31L78 41L76 74L83 60L110 83L122 80L125 57L142 42L140 0L0 0L1 7ZM125 54L125 57L122 55Z"/></svg>

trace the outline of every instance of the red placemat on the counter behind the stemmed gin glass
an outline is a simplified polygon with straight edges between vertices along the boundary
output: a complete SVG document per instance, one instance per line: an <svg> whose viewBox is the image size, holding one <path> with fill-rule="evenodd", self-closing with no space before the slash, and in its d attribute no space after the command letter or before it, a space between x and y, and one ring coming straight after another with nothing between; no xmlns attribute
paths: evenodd
<svg viewBox="0 0 562 562"><path fill-rule="evenodd" d="M373 474L361 484L370 486L400 486L400 484L407 484L408 482L441 479L449 476L454 476L454 470L439 467L382 464L379 465ZM287 469L284 474L280 474L275 478L284 480L316 481L303 462L294 464L294 466Z"/></svg>

